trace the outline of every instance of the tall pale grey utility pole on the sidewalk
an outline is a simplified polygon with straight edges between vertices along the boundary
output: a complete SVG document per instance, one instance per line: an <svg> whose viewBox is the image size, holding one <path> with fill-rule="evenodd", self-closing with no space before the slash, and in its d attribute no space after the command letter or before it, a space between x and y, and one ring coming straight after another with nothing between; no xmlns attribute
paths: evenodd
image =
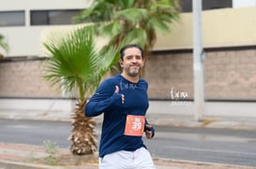
<svg viewBox="0 0 256 169"><path fill-rule="evenodd" d="M204 107L202 0L193 0L193 73L195 120L202 121Z"/></svg>

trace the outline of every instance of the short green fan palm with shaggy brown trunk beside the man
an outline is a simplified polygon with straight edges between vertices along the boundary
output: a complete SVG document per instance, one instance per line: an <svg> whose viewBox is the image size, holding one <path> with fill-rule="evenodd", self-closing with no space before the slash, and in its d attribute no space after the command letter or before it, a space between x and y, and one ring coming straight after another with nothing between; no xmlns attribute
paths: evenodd
<svg viewBox="0 0 256 169"><path fill-rule="evenodd" d="M84 117L83 108L100 78L117 62L115 55L119 51L97 49L96 38L92 27L87 26L54 33L43 43L49 57L45 79L58 89L64 88L70 96L79 95L69 136L70 150L75 155L92 154L97 149L96 122Z"/></svg>

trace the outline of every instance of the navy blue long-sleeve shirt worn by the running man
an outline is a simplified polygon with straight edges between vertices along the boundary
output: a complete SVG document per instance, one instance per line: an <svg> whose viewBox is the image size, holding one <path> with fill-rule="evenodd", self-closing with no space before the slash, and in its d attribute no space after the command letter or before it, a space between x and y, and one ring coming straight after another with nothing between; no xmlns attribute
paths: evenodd
<svg viewBox="0 0 256 169"><path fill-rule="evenodd" d="M119 93L114 93L115 86ZM148 108L147 82L140 78L138 83L129 82L121 75L105 79L84 108L85 116L95 117L104 113L99 157L118 151L133 151L142 148L142 136L124 134L128 115L145 116ZM125 95L122 104L121 94ZM145 120L145 124L148 122Z"/></svg>

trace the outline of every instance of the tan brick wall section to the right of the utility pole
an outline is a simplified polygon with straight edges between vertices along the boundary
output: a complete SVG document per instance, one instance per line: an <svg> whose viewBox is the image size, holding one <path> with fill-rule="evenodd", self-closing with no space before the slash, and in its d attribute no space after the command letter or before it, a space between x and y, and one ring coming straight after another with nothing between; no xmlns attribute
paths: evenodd
<svg viewBox="0 0 256 169"><path fill-rule="evenodd" d="M255 63L255 47L206 52L206 97L256 100Z"/></svg>

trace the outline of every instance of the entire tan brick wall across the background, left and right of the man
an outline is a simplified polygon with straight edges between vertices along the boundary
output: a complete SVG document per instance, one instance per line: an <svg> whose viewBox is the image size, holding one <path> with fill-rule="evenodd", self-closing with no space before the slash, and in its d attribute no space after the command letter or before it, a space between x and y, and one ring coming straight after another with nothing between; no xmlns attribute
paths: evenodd
<svg viewBox="0 0 256 169"><path fill-rule="evenodd" d="M204 63L206 99L255 100L256 49L207 49ZM43 79L43 60L0 61L0 97L56 98L61 93ZM146 62L149 98L172 100L173 92L193 98L191 50L155 53ZM182 99L182 98L180 98Z"/></svg>

